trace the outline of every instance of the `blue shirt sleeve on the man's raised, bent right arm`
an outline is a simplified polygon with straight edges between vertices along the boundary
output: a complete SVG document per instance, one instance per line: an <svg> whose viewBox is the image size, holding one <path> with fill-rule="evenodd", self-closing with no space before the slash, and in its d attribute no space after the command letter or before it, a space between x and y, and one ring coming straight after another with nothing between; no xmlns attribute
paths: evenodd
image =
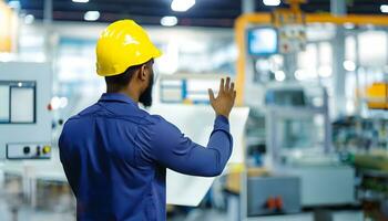
<svg viewBox="0 0 388 221"><path fill-rule="evenodd" d="M174 125L159 118L157 123L141 129L137 136L147 158L185 175L214 177L222 173L233 148L226 117L216 117L206 147L192 141Z"/></svg>

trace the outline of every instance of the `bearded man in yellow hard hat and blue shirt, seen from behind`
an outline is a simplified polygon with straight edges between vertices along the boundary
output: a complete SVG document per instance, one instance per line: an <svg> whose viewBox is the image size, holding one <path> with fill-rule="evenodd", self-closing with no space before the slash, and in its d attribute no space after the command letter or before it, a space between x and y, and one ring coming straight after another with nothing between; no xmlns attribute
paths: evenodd
<svg viewBox="0 0 388 221"><path fill-rule="evenodd" d="M216 118L207 147L137 106L152 104L153 59L160 55L131 20L112 23L99 39L96 66L106 93L71 117L59 140L78 220L163 221L166 168L213 177L231 156L228 116L236 92L229 78L221 81L217 97L208 91Z"/></svg>

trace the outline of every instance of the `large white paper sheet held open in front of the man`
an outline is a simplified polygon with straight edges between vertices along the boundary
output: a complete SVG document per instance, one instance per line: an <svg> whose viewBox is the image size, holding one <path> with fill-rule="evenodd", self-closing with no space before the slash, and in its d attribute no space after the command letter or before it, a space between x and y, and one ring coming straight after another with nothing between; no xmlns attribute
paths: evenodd
<svg viewBox="0 0 388 221"><path fill-rule="evenodd" d="M151 108L152 114L161 115L177 126L193 141L206 146L214 126L215 114L208 105L163 104ZM228 164L244 161L244 129L248 118L248 107L235 107L229 117L233 136L233 154ZM194 177L167 170L167 203L198 206L214 178Z"/></svg>

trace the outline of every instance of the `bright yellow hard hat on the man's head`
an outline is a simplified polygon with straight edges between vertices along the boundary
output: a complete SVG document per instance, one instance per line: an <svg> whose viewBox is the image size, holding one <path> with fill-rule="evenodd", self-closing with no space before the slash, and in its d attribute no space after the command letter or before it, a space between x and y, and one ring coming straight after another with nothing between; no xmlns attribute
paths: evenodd
<svg viewBox="0 0 388 221"><path fill-rule="evenodd" d="M144 29L132 20L110 24L102 32L95 53L96 72L100 76L122 74L130 66L162 55Z"/></svg>

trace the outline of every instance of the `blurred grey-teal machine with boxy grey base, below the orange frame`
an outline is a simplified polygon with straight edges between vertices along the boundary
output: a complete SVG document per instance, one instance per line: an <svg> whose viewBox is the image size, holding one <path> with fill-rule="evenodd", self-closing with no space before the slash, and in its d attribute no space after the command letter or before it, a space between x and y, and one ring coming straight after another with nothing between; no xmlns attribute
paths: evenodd
<svg viewBox="0 0 388 221"><path fill-rule="evenodd" d="M277 93L267 91L267 95L274 97L266 108L270 167L274 172L300 178L304 207L353 204L355 170L341 164L339 155L331 149L327 93L321 87L316 90L321 91L321 97L318 97L321 102L317 102L319 106L309 102L314 99L308 98L303 88L294 88L294 94L299 96L294 97L294 104L283 105L275 101L285 101L283 94L290 96L289 88L275 90Z"/></svg>

